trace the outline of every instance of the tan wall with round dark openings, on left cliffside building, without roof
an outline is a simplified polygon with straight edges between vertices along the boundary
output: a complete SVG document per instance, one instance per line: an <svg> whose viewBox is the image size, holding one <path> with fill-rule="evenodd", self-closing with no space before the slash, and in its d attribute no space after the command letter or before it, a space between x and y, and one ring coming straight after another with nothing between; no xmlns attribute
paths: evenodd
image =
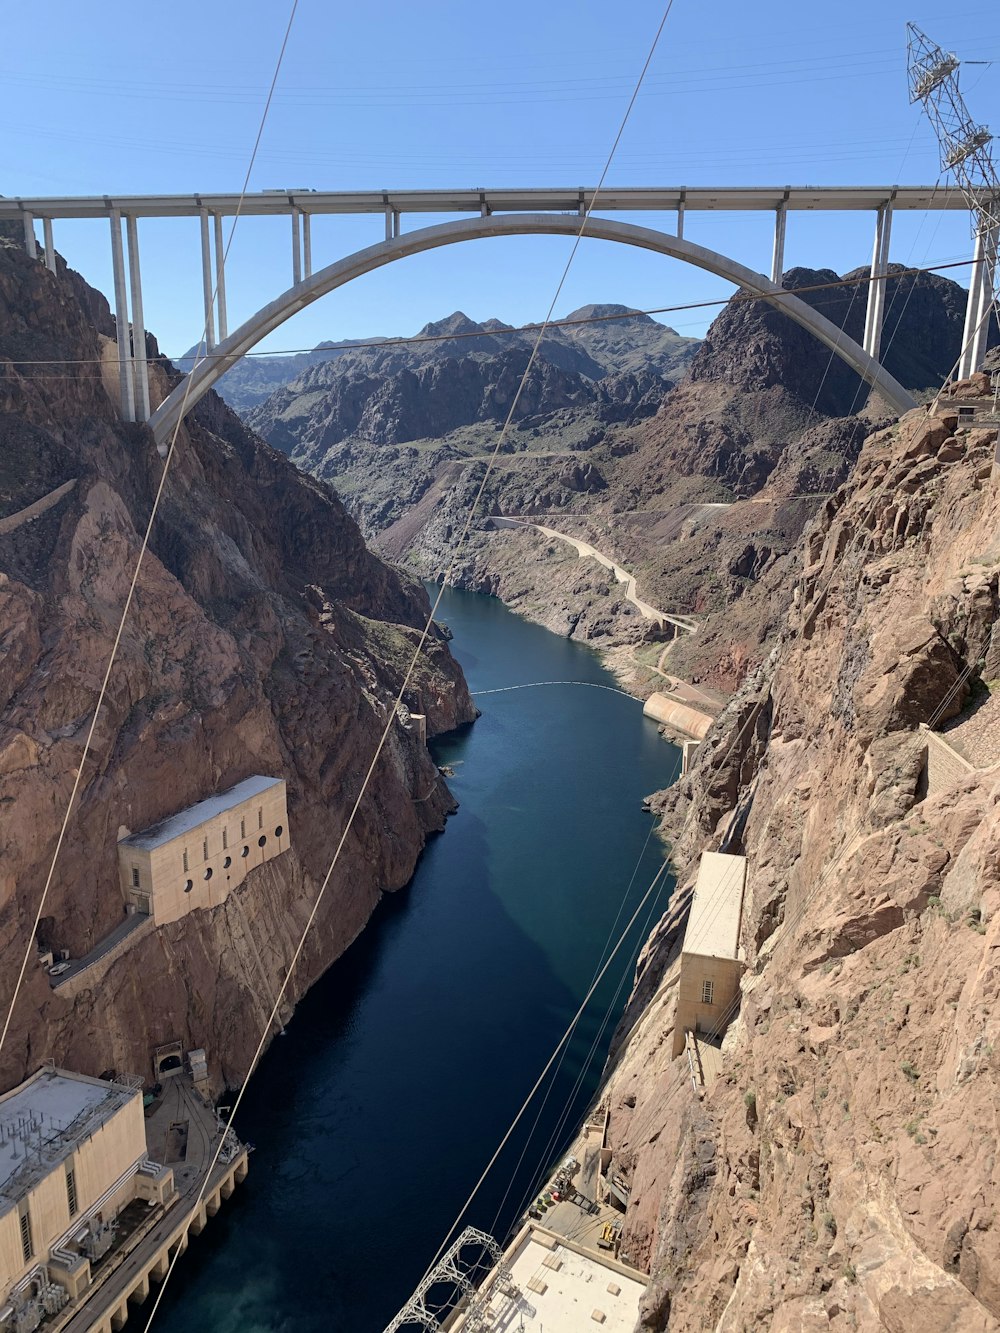
<svg viewBox="0 0 1000 1333"><path fill-rule="evenodd" d="M148 898L153 921L165 925L197 908L225 902L255 865L280 856L289 845L285 784L276 782L160 846L120 842L121 892L133 905Z"/></svg>

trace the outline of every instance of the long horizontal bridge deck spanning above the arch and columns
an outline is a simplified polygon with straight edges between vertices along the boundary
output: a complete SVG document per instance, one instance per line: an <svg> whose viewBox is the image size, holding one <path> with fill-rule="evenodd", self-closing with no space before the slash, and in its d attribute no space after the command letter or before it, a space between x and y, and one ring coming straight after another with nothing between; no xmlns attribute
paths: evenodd
<svg viewBox="0 0 1000 1333"><path fill-rule="evenodd" d="M131 217L197 217L203 208L220 216L305 213L521 213L585 212L592 188L567 189L403 189L313 191L265 189L239 195L91 195L0 199L0 219L107 217L119 209ZM796 212L869 211L892 203L893 209L920 212L968 211L960 191L933 185L748 185L687 188L605 188L599 212Z"/></svg>

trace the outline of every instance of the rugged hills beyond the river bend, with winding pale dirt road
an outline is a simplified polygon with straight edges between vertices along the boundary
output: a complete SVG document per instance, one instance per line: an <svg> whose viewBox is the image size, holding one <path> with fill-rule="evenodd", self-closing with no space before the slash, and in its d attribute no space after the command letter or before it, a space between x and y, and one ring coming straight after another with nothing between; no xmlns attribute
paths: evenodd
<svg viewBox="0 0 1000 1333"><path fill-rule="evenodd" d="M839 281L829 269L784 277L860 336L865 284L831 287ZM697 348L623 311L588 307L573 317L596 323L545 335L455 568L452 537L527 363L524 336L456 315L428 325L420 337L429 341L313 365L249 420L336 485L391 559L495 593L559 633L635 648L651 631L600 567L531 531L493 531L488 516L543 517L592 543L664 611L737 607L739 641L671 666L731 690L760 660L772 624L767 601L743 604L747 591L780 583L803 525L849 475L865 432L891 416L839 359L760 301L729 305ZM889 369L916 391L940 384L963 312L964 293L949 279L895 279L883 339ZM640 692L661 680L632 649L621 669Z"/></svg>

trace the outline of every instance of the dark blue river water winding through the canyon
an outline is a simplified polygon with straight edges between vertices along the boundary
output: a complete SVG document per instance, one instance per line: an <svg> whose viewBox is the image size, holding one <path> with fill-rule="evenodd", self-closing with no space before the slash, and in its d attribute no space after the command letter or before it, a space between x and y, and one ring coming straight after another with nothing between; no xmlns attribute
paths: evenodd
<svg viewBox="0 0 1000 1333"><path fill-rule="evenodd" d="M440 616L473 692L615 685L588 649L492 599L448 592ZM157 1333L381 1333L587 993L619 909L624 925L653 880L661 850L640 802L679 753L640 705L580 685L477 702L479 721L435 745L459 813L261 1062L236 1125L257 1145L249 1177L177 1264ZM575 1130L668 888L467 1221L505 1234L560 1121L557 1146Z"/></svg>

